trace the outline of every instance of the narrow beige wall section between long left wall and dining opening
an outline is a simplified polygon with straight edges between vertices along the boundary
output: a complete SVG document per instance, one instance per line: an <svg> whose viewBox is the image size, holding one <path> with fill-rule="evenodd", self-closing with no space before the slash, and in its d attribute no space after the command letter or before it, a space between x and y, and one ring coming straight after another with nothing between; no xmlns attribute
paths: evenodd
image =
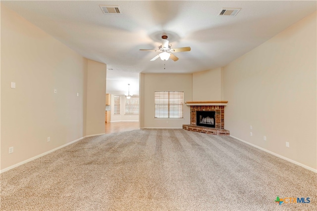
<svg viewBox="0 0 317 211"><path fill-rule="evenodd" d="M88 60L86 135L105 133L106 64Z"/></svg>

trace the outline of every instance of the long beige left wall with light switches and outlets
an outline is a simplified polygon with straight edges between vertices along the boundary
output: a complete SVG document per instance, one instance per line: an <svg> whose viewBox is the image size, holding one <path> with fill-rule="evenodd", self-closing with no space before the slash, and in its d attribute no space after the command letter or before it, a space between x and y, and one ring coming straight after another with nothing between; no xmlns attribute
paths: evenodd
<svg viewBox="0 0 317 211"><path fill-rule="evenodd" d="M1 169L83 137L87 59L3 5L0 59Z"/></svg>

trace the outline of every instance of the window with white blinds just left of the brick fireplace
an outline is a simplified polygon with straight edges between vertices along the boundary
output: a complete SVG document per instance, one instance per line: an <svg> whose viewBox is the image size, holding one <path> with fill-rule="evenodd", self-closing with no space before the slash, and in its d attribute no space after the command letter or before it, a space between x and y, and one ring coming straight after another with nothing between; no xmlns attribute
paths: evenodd
<svg viewBox="0 0 317 211"><path fill-rule="evenodd" d="M183 91L156 91L155 118L183 118Z"/></svg>

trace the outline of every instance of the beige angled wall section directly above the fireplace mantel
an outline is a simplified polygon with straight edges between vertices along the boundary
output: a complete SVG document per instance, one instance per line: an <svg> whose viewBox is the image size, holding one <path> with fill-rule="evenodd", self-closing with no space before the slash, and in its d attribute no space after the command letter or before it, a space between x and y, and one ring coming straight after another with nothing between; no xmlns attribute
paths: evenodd
<svg viewBox="0 0 317 211"><path fill-rule="evenodd" d="M193 73L193 101L222 100L222 68Z"/></svg>

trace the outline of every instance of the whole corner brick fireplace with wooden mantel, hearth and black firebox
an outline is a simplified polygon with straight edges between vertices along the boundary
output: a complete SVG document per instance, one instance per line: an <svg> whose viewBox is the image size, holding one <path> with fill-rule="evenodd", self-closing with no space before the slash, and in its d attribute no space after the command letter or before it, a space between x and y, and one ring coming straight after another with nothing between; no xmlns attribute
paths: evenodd
<svg viewBox="0 0 317 211"><path fill-rule="evenodd" d="M224 129L224 106L226 106L227 102L228 101L186 102L187 106L190 106L191 124L183 125L183 129L215 135L229 135L229 130ZM202 115L205 111L211 114L214 112L214 116L210 114L206 115L207 121L203 122L208 122L206 125L197 123L197 120L202 119ZM197 112L199 112L200 118L197 118Z"/></svg>

